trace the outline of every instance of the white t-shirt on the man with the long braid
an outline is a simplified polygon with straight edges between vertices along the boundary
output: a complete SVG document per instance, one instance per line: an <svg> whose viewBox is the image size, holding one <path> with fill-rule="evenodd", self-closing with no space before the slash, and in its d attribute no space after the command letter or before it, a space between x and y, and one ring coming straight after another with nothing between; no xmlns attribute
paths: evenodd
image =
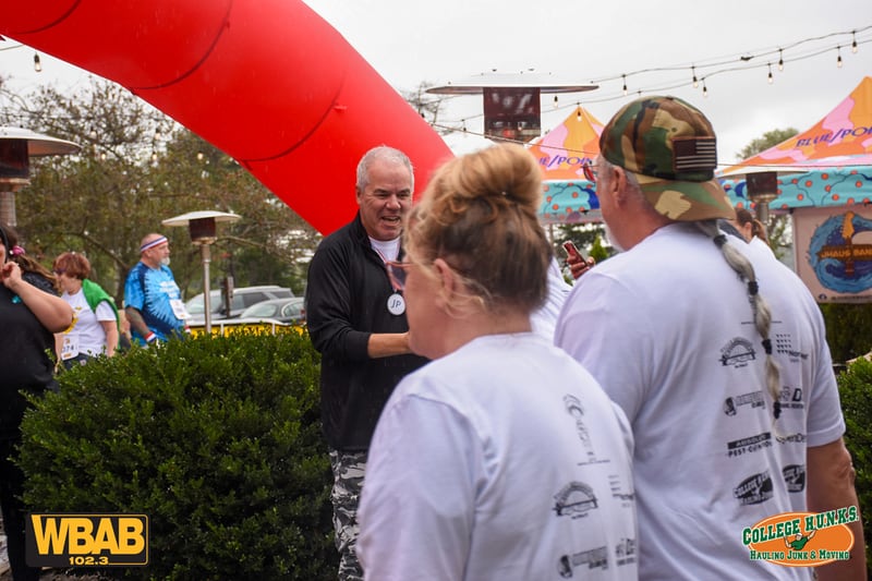
<svg viewBox="0 0 872 581"><path fill-rule="evenodd" d="M806 510L806 447L845 429L824 324L794 273L727 238L772 308L783 439L747 287L693 226L667 226L597 264L557 323L556 344L632 424L642 579L810 574L751 561L742 529Z"/></svg>

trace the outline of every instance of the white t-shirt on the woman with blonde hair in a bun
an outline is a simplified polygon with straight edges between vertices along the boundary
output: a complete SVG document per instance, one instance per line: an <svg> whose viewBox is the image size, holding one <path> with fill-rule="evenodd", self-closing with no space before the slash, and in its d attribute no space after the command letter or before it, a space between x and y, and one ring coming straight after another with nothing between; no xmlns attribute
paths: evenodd
<svg viewBox="0 0 872 581"><path fill-rule="evenodd" d="M358 555L379 581L637 579L626 417L535 334L474 339L397 386Z"/></svg>

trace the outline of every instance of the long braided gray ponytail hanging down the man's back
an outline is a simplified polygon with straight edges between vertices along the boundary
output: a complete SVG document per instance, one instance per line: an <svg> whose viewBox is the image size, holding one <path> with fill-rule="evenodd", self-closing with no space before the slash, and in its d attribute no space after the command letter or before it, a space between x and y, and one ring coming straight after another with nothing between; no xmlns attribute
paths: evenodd
<svg viewBox="0 0 872 581"><path fill-rule="evenodd" d="M759 292L760 289L756 282L754 267L742 253L740 253L731 244L727 244L727 237L720 230L718 230L716 220L706 220L694 223L705 235L714 241L715 245L717 245L717 247L720 249L720 252L724 254L724 259L727 261L727 264L734 270L736 270L736 273L739 275L739 278L741 278L747 285L748 301L751 303L751 311L754 314L754 326L756 327L756 331L763 338L763 351L766 353L766 389L768 390L770 396L772 396L773 401L773 429L775 432L775 437L778 440L783 440L784 436L780 436L778 434L778 429L775 427L775 422L777 422L778 417L782 415L782 380L778 364L772 356L772 339L770 339L772 312L770 311L768 304Z"/></svg>

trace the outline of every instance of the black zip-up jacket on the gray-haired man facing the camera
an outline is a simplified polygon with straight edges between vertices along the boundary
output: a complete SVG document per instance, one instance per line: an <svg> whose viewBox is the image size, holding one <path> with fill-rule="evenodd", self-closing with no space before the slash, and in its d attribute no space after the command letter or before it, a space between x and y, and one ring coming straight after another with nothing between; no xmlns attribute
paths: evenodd
<svg viewBox="0 0 872 581"><path fill-rule="evenodd" d="M368 449L393 388L427 362L417 355L367 355L370 335L409 330L404 314L388 312L392 293L360 213L315 251L306 282L306 326L322 354L322 420L327 443L335 449Z"/></svg>

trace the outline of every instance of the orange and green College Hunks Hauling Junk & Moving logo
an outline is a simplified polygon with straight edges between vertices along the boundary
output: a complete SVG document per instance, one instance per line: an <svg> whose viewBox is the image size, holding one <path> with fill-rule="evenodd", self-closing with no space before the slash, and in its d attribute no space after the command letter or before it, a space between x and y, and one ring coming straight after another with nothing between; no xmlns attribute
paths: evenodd
<svg viewBox="0 0 872 581"><path fill-rule="evenodd" d="M853 533L848 525L858 520L857 507L783 512L742 530L742 543L748 546L751 560L816 567L850 558Z"/></svg>

